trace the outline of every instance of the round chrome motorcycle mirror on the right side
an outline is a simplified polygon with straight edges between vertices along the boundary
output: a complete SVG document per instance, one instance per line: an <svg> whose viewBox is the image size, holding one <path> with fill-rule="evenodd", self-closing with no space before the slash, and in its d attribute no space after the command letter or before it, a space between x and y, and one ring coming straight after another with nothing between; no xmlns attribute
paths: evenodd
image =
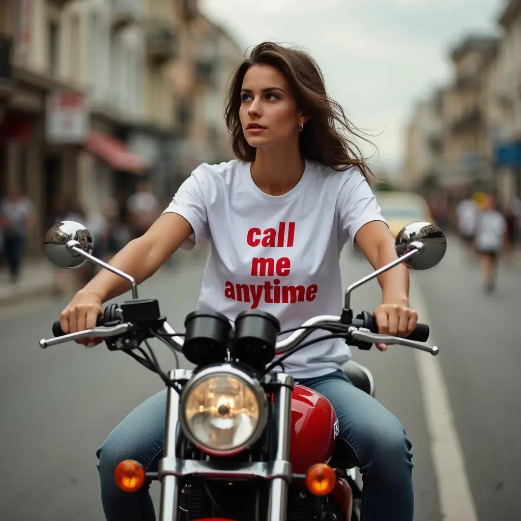
<svg viewBox="0 0 521 521"><path fill-rule="evenodd" d="M436 266L447 249L444 233L436 225L426 221L416 221L405 225L394 242L396 254L401 257L411 249L419 250L403 262L407 268L429 269Z"/></svg>

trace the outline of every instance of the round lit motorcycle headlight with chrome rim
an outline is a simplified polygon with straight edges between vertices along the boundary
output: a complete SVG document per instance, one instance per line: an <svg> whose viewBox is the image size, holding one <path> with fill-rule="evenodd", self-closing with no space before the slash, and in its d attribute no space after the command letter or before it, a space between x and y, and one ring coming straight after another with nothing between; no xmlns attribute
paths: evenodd
<svg viewBox="0 0 521 521"><path fill-rule="evenodd" d="M203 369L183 389L181 426L202 450L227 455L255 443L267 422L261 384L233 366Z"/></svg>

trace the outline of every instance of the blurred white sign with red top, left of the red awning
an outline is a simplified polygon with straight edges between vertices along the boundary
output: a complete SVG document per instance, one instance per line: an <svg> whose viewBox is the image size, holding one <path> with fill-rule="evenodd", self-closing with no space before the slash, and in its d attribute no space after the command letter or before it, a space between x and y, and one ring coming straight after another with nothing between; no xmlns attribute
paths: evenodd
<svg viewBox="0 0 521 521"><path fill-rule="evenodd" d="M71 91L47 96L45 127L47 140L55 144L82 144L89 132L87 97Z"/></svg>

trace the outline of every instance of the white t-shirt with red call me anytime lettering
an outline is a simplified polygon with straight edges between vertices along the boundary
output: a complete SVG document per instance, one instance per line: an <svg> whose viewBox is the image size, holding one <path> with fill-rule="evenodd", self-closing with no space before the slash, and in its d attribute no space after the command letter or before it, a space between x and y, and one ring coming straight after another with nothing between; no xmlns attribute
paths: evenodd
<svg viewBox="0 0 521 521"><path fill-rule="evenodd" d="M193 228L182 249L210 241L198 309L234 320L256 308L276 316L282 330L316 315L340 315L342 247L367 222L385 222L357 168L337 172L309 161L299 183L279 196L256 186L250 163L203 164L165 212L181 215ZM325 334L319 330L306 340ZM311 378L339 369L350 357L349 346L333 339L283 364L295 378Z"/></svg>

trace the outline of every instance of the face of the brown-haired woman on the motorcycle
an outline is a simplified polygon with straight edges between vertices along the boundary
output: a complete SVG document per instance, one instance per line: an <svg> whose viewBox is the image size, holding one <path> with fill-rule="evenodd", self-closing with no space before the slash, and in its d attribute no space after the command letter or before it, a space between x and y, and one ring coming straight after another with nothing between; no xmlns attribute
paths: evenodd
<svg viewBox="0 0 521 521"><path fill-rule="evenodd" d="M270 65L253 65L246 71L239 117L246 141L256 148L295 138L299 123L305 123L286 78Z"/></svg>

